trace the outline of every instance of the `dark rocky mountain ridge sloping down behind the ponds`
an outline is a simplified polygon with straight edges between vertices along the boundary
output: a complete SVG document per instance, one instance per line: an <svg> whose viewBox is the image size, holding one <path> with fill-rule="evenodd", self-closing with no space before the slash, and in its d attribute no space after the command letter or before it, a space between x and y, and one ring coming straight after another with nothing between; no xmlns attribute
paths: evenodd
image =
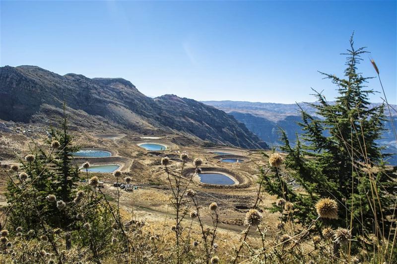
<svg viewBox="0 0 397 264"><path fill-rule="evenodd" d="M62 76L37 66L0 68L0 119L51 124L62 114L64 101L76 129L181 134L215 144L267 147L221 110L174 95L152 99L122 78Z"/></svg>

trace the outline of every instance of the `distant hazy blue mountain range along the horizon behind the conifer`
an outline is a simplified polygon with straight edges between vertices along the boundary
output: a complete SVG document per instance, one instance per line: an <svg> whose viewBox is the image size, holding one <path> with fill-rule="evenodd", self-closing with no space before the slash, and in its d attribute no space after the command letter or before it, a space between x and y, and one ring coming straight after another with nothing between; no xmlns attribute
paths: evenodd
<svg viewBox="0 0 397 264"><path fill-rule="evenodd" d="M302 134L302 130L297 124L302 121L299 114L299 106L305 111L312 113L315 117L318 117L314 112L314 108L306 103L299 103L299 106L296 104L251 103L239 101L204 101L202 103L214 106L233 115L270 146L281 144L278 127L281 127L287 133L291 142L295 141L296 133ZM330 104L332 104L332 102ZM378 106L379 104L375 103L371 105ZM391 106L397 109L397 105ZM386 113L389 115L388 111ZM392 116L394 118L394 124L396 125L397 112L393 109ZM387 131L384 133L384 138L380 140L379 143L387 148L387 153L396 154L397 142L392 131L391 122L385 122L385 127ZM397 164L397 156L391 159L391 163Z"/></svg>

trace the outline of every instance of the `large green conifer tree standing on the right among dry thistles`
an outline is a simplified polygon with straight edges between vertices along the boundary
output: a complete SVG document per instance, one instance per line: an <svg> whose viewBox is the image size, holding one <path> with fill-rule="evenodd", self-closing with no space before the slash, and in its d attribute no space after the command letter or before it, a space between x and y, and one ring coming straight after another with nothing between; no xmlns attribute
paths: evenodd
<svg viewBox="0 0 397 264"><path fill-rule="evenodd" d="M301 108L304 134L297 136L292 148L283 133L282 150L288 154L286 167L306 190L289 194L302 218L315 214L313 205L319 198L329 197L339 203L339 219L329 223L351 228L354 234L384 236L391 224L388 216L393 213L396 176L385 165L377 144L385 131L384 106L370 105L374 91L365 86L370 78L357 70L365 53L365 48L354 48L352 36L350 48L342 53L347 56L344 76L321 72L337 87L335 102L327 102L315 91L317 102L310 105L320 118Z"/></svg>

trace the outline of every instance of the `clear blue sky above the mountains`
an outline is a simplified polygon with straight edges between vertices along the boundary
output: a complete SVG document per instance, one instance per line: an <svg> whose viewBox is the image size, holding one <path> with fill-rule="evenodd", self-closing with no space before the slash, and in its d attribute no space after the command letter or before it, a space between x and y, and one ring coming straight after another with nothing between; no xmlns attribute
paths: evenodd
<svg viewBox="0 0 397 264"><path fill-rule="evenodd" d="M348 40L397 103L396 1L0 1L0 65L122 77L147 96L294 103L317 70L341 75ZM378 80L369 85L380 91ZM381 102L380 94L372 102Z"/></svg>

